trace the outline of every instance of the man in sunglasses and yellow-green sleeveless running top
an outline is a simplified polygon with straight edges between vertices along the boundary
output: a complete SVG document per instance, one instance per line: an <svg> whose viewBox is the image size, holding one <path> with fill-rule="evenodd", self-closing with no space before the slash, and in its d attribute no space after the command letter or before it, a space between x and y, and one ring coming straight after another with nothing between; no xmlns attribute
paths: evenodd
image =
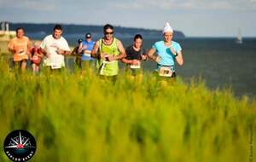
<svg viewBox="0 0 256 162"><path fill-rule="evenodd" d="M91 56L97 58L97 68L102 77L113 77L119 73L118 60L126 56L125 49L119 39L113 37L113 26L103 27L104 38L94 45Z"/></svg>

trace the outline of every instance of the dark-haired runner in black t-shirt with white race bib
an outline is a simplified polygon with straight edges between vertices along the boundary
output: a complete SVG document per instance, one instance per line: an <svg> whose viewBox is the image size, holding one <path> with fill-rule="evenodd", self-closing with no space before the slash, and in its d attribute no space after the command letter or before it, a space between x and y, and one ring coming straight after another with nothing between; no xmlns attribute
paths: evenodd
<svg viewBox="0 0 256 162"><path fill-rule="evenodd" d="M126 57L122 59L126 63L127 71L131 71L132 76L142 72L141 61L147 60L145 49L143 49L143 37L140 34L135 35L133 44L125 49Z"/></svg>

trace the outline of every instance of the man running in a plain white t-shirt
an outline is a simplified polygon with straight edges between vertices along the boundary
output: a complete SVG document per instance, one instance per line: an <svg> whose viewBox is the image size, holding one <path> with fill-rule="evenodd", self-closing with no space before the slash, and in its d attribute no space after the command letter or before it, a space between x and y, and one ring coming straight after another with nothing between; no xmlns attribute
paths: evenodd
<svg viewBox="0 0 256 162"><path fill-rule="evenodd" d="M40 45L43 54L46 55L44 66L49 67L51 71L65 67L64 55L70 54L67 40L61 37L61 25L55 25L53 34L44 38Z"/></svg>

